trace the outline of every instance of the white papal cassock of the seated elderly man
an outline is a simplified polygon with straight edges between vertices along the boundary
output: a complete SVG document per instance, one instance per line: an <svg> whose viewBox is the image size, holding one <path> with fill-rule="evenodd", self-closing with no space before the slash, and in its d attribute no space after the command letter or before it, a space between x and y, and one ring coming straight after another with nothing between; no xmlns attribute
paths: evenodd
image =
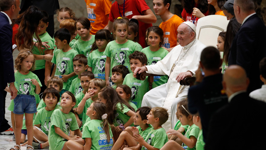
<svg viewBox="0 0 266 150"><path fill-rule="evenodd" d="M199 67L201 51L205 47L204 44L195 39L184 47L175 46L165 58L156 64L145 66L148 69L147 73L169 76L167 83L150 90L144 95L141 105L168 109L169 118L163 125L165 130L174 128L177 122L175 115L177 103L187 98L189 88L189 86L180 85L175 78L179 73L187 72L188 70L195 76L195 71ZM176 66L170 74L173 64L176 64Z"/></svg>

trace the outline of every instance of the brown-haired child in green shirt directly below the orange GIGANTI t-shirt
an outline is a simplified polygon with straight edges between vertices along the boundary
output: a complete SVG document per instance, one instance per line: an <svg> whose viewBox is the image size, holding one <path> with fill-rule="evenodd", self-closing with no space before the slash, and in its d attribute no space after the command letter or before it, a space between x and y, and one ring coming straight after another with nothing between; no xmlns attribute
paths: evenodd
<svg viewBox="0 0 266 150"><path fill-rule="evenodd" d="M81 38L74 43L73 49L88 58L92 44L95 41L95 35L90 35L92 29L91 23L87 18L82 17L76 21L75 26Z"/></svg>

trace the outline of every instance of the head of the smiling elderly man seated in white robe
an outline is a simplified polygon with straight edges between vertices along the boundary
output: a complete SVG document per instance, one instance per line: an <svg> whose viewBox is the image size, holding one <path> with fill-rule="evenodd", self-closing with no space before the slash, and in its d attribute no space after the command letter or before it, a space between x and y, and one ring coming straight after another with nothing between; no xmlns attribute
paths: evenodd
<svg viewBox="0 0 266 150"><path fill-rule="evenodd" d="M192 41L191 33L189 33L187 27L189 27L187 24L180 24L177 29L177 38L181 46L186 46Z"/></svg>

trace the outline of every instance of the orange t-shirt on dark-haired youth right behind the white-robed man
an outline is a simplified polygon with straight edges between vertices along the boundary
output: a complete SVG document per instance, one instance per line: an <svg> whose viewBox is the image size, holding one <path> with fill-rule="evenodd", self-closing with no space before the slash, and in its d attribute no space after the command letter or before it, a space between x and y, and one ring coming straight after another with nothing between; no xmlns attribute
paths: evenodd
<svg viewBox="0 0 266 150"><path fill-rule="evenodd" d="M171 48L177 45L177 28L182 22L184 22L184 20L177 15L173 15L169 20L159 25L164 31L163 46L165 48Z"/></svg>

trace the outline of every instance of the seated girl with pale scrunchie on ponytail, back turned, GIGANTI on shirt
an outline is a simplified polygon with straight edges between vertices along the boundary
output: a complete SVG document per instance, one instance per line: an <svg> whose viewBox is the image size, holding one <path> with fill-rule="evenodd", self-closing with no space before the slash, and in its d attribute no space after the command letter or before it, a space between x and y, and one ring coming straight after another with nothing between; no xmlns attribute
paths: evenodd
<svg viewBox="0 0 266 150"><path fill-rule="evenodd" d="M83 127L84 149L107 150L113 147L114 138L107 121L107 108L101 102L93 102L87 110L91 118Z"/></svg>

